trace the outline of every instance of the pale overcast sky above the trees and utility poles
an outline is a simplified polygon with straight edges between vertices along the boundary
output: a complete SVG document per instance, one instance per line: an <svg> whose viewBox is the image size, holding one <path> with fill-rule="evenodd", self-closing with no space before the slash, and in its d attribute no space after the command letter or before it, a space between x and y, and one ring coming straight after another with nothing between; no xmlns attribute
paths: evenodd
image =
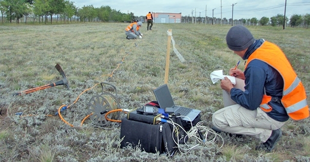
<svg viewBox="0 0 310 162"><path fill-rule="evenodd" d="M231 18L233 4L234 19L272 17L277 14L284 15L285 0L73 0L76 7L93 5L95 8L110 6L111 9L122 13L134 13L135 16L145 16L150 12L182 13L182 16L199 15ZM221 5L222 2L222 5ZM222 6L222 12L221 12ZM195 12L196 10L196 12ZM293 14L310 14L310 0L286 0L286 17Z"/></svg>

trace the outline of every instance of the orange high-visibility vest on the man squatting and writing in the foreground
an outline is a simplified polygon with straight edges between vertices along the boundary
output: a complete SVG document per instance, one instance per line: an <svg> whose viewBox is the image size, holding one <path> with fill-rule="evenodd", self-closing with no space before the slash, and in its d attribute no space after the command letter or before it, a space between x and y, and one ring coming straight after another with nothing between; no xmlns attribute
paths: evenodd
<svg viewBox="0 0 310 162"><path fill-rule="evenodd" d="M284 87L281 103L288 116L294 120L307 118L309 116L309 108L305 89L282 50L275 44L265 41L261 47L256 49L255 52L248 57L245 69L251 60L254 59L262 60L269 66L272 66L282 76ZM263 95L260 104L260 108L263 111L272 111L272 107L268 105L270 100L272 100L272 96Z"/></svg>

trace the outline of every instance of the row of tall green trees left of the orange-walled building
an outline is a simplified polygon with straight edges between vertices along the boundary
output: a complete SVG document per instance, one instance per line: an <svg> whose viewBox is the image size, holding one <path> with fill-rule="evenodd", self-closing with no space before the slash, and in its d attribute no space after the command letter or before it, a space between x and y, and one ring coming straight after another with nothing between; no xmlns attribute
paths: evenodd
<svg viewBox="0 0 310 162"><path fill-rule="evenodd" d="M53 16L67 22L76 18L80 22L131 22L134 19L133 13L122 13L109 6L95 8L92 5L76 7L74 2L68 0L0 0L0 12L2 23L8 21L20 23L22 17L33 17L33 21L38 19L39 23L44 20L47 23L53 22Z"/></svg>

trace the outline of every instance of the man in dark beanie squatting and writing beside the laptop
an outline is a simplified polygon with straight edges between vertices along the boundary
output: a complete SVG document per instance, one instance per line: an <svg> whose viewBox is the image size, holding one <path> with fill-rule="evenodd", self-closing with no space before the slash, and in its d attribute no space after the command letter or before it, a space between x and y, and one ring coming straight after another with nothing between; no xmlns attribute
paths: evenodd
<svg viewBox="0 0 310 162"><path fill-rule="evenodd" d="M257 150L272 151L288 118L309 116L305 89L277 45L254 39L241 25L230 28L226 43L247 62L244 72L229 70L236 77L235 87L227 77L221 80L225 107L213 114L212 124L224 132L254 136L262 141Z"/></svg>

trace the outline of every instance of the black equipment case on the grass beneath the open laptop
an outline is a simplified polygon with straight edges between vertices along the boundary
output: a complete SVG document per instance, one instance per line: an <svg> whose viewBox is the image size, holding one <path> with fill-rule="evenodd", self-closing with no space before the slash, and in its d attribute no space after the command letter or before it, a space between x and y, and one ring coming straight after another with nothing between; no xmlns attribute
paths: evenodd
<svg viewBox="0 0 310 162"><path fill-rule="evenodd" d="M177 148L168 123L152 125L125 117L122 119L121 138L124 138L121 147L140 145L145 152L172 154Z"/></svg>

